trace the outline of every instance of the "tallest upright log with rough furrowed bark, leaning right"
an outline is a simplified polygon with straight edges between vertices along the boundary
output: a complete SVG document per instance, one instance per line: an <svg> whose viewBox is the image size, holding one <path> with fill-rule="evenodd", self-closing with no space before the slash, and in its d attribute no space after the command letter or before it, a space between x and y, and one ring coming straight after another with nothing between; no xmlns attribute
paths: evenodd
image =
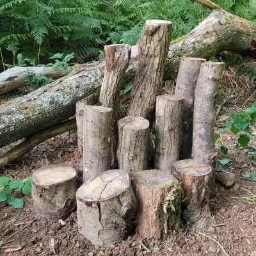
<svg viewBox="0 0 256 256"><path fill-rule="evenodd" d="M127 115L141 116L151 121L154 119L156 96L162 88L171 31L172 22L146 20L139 42L138 67Z"/></svg>

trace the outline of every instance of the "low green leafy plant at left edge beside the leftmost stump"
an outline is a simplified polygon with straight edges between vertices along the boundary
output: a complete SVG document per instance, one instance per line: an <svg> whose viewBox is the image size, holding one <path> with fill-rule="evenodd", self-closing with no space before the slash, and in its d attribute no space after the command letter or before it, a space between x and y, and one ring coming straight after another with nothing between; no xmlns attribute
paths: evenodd
<svg viewBox="0 0 256 256"><path fill-rule="evenodd" d="M30 178L10 181L9 177L0 177L0 202L6 202L13 208L22 209L24 207L24 200L12 196L13 191L20 191L22 194L30 196L31 190Z"/></svg>

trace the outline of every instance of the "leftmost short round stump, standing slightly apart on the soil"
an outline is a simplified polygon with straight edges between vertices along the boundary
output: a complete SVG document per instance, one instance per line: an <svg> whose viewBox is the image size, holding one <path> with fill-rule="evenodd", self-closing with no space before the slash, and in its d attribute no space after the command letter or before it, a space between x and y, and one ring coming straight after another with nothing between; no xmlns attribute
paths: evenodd
<svg viewBox="0 0 256 256"><path fill-rule="evenodd" d="M32 197L38 216L59 220L76 207L76 170L62 164L44 166L32 175Z"/></svg>

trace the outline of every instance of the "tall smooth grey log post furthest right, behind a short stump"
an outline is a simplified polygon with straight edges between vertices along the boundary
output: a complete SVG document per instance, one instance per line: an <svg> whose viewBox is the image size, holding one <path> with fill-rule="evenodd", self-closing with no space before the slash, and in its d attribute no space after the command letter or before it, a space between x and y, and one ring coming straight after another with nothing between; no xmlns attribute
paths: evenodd
<svg viewBox="0 0 256 256"><path fill-rule="evenodd" d="M224 63L207 61L202 63L195 90L193 118L193 159L212 166L215 180L214 116L215 98L224 71ZM210 198L214 198L212 182Z"/></svg>

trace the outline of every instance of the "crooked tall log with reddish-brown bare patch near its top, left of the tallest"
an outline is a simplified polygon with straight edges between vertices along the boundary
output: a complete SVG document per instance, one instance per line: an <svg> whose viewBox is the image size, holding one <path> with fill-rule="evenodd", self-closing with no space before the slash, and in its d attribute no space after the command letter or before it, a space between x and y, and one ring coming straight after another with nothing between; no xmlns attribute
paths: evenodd
<svg viewBox="0 0 256 256"><path fill-rule="evenodd" d="M125 71L131 59L130 45L106 45L105 70L100 90L100 104L113 109L111 135L111 166L117 166L116 150L118 142L117 120L119 114L120 92L124 84Z"/></svg>

